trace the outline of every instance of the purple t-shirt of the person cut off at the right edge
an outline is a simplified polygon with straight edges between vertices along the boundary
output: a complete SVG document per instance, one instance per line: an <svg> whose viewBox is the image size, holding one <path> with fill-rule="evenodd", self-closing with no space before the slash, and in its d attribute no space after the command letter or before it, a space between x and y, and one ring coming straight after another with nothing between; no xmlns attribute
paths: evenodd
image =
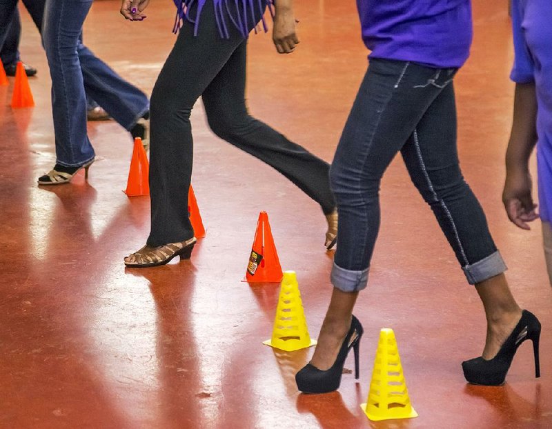
<svg viewBox="0 0 552 429"><path fill-rule="evenodd" d="M535 82L540 217L552 221L552 0L512 1L511 79Z"/></svg>

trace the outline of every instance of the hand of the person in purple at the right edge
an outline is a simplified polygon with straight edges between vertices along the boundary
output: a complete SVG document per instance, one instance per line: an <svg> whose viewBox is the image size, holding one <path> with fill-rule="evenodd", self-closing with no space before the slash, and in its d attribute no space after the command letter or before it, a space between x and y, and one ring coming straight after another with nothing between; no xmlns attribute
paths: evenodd
<svg viewBox="0 0 552 429"><path fill-rule="evenodd" d="M530 230L527 222L538 219L537 205L531 196L531 174L529 171L516 170L506 174L502 202L508 218L523 230Z"/></svg>

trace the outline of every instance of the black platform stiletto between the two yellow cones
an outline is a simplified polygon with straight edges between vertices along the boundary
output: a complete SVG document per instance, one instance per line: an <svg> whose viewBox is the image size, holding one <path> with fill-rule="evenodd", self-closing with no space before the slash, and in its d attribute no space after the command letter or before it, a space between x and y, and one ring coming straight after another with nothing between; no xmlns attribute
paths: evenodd
<svg viewBox="0 0 552 429"><path fill-rule="evenodd" d="M364 333L362 325L358 319L353 316L351 321L351 328L347 333L339 353L337 354L337 359L333 363L333 366L328 370L319 370L311 363L307 363L306 366L302 368L295 375L295 382L297 383L297 388L305 393L326 393L333 392L339 388L341 383L341 376L343 373L343 366L345 359L348 355L349 350L353 348L355 352L355 379L359 377L359 346L360 346L360 337Z"/></svg>

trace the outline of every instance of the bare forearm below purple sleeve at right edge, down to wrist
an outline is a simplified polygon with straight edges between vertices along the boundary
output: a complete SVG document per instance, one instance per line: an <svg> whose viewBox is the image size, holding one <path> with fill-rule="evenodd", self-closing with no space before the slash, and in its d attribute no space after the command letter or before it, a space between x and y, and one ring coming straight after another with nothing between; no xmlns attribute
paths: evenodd
<svg viewBox="0 0 552 429"><path fill-rule="evenodd" d="M535 83L516 83L513 123L506 150L506 170L526 170L537 143Z"/></svg>

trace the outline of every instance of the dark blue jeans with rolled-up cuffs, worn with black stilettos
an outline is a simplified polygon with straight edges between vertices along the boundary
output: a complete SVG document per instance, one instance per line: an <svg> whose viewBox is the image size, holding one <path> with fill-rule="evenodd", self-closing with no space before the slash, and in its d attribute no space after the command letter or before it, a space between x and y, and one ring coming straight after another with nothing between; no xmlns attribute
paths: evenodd
<svg viewBox="0 0 552 429"><path fill-rule="evenodd" d="M370 61L330 171L339 212L331 275L335 288L366 288L380 228L380 181L397 152L469 283L506 270L484 212L460 171L455 72L406 61Z"/></svg>

